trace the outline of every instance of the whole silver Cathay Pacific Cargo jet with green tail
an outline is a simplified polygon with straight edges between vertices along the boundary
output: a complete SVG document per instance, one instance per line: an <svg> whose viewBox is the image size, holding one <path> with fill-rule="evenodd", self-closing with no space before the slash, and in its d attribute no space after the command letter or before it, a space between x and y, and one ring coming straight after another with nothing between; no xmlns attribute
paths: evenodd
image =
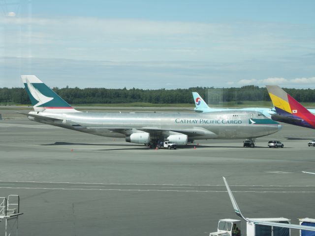
<svg viewBox="0 0 315 236"><path fill-rule="evenodd" d="M282 126L259 112L226 111L208 114L88 113L71 107L34 75L22 75L34 111L30 120L153 147L158 141L177 145L201 139L254 139Z"/></svg>

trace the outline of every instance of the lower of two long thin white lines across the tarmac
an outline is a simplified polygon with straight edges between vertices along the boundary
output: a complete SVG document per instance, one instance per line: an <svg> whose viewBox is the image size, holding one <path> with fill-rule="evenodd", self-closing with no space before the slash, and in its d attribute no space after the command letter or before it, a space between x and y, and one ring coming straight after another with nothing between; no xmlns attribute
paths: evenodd
<svg viewBox="0 0 315 236"><path fill-rule="evenodd" d="M138 192L200 192L200 193L226 193L216 190L160 190L160 189L102 189L102 188L39 188L39 187L0 187L8 189L42 189L42 190L96 190L96 191L138 191ZM233 193L315 193L315 191L233 191Z"/></svg>

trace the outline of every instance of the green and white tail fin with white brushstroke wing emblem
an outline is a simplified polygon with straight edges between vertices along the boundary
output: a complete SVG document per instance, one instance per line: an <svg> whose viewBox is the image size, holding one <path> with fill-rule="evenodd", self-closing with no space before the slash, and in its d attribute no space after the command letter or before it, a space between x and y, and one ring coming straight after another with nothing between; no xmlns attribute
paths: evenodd
<svg viewBox="0 0 315 236"><path fill-rule="evenodd" d="M22 75L34 111L78 112L34 75Z"/></svg>

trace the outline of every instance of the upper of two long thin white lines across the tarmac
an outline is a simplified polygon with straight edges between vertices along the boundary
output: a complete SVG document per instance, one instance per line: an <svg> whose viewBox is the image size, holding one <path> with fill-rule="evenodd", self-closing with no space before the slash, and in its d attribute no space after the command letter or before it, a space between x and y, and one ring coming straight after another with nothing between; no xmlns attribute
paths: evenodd
<svg viewBox="0 0 315 236"><path fill-rule="evenodd" d="M84 183L84 182L53 182L53 181L19 181L0 180L0 182L15 183L67 183L67 184L100 184L100 185L160 185L160 186L225 186L224 184L171 184L171 183ZM315 187L315 185L230 185L235 187ZM234 191L233 191L234 192Z"/></svg>

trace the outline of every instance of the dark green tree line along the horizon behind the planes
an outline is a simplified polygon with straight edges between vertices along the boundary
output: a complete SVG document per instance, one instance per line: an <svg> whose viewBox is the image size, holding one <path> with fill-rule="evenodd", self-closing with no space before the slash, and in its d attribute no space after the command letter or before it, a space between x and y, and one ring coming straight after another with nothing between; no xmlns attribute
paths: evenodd
<svg viewBox="0 0 315 236"><path fill-rule="evenodd" d="M193 103L192 91L205 101L270 101L266 88L243 86L241 88L194 87L189 89L105 89L105 88L62 88L53 90L69 104L131 103L155 104ZM315 89L284 89L299 102L315 102ZM0 103L31 104L24 88L0 88Z"/></svg>

